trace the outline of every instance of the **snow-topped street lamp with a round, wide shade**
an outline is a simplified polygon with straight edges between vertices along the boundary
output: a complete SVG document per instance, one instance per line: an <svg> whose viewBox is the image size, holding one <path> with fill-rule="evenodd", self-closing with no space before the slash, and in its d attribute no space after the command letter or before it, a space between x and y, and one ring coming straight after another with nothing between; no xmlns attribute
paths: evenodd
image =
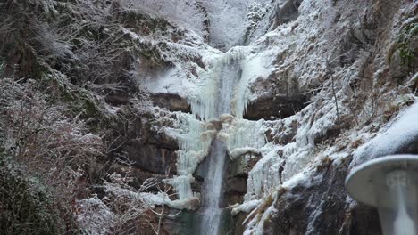
<svg viewBox="0 0 418 235"><path fill-rule="evenodd" d="M384 235L418 235L418 155L375 158L346 179L348 194L378 207Z"/></svg>

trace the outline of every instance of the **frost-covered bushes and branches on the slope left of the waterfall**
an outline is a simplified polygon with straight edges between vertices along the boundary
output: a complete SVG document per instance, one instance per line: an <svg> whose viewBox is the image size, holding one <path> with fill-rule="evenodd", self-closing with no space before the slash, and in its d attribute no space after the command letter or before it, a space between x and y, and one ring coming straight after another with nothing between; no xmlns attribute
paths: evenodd
<svg viewBox="0 0 418 235"><path fill-rule="evenodd" d="M127 181L122 149L133 123L154 118L135 61L168 63L146 38L171 24L118 1L0 9L0 233L159 234L166 213L143 193L166 184Z"/></svg>

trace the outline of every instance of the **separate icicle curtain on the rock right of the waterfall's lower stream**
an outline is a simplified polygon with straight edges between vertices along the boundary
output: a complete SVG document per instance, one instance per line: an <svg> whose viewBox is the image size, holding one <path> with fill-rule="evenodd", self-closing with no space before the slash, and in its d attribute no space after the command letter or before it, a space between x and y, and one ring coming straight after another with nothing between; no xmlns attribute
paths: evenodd
<svg viewBox="0 0 418 235"><path fill-rule="evenodd" d="M280 186L279 168L282 159L277 154L281 146L269 143L263 147L263 158L259 160L248 174L247 194L245 200L262 199Z"/></svg>

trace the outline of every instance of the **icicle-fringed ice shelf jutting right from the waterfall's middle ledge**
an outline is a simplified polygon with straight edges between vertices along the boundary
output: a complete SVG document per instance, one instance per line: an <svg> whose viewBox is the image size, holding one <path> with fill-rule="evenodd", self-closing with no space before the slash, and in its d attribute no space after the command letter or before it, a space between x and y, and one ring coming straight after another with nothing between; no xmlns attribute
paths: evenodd
<svg viewBox="0 0 418 235"><path fill-rule="evenodd" d="M230 115L223 115L221 118L222 130L218 134L222 142L226 143L229 153L235 151L255 151L265 144L263 122L249 121L246 119L234 118ZM243 150L243 151L239 151ZM237 157L237 154L230 154L230 157Z"/></svg>

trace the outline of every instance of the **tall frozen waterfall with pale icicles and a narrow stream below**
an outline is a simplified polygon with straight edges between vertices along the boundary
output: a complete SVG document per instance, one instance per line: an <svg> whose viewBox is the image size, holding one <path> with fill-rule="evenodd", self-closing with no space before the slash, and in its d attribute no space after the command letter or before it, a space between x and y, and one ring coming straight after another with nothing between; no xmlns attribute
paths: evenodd
<svg viewBox="0 0 418 235"><path fill-rule="evenodd" d="M223 234L221 202L227 156L233 159L247 152L258 153L265 144L263 120L242 119L245 107L240 106L247 104L242 66L247 53L247 48L236 46L213 58L212 67L201 75L200 91L189 100L192 114L178 112L174 128L166 130L180 146L178 175L166 182L176 190L181 203L192 205L200 199L199 234ZM191 184L204 160L207 168L199 196Z"/></svg>

